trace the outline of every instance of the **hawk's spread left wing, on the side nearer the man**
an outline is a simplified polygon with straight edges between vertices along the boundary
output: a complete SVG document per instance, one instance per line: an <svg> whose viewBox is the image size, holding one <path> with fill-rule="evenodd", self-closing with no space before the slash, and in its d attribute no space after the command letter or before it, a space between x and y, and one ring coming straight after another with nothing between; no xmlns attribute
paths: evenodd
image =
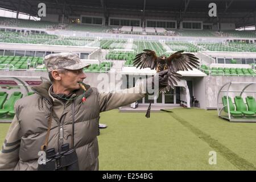
<svg viewBox="0 0 256 182"><path fill-rule="evenodd" d="M155 54L155 51L151 51L149 49L144 49L144 52L139 53L138 55L135 56L133 65L137 66L136 68L140 67L139 69L142 68L151 68L155 69L156 68L156 63L158 57Z"/></svg>

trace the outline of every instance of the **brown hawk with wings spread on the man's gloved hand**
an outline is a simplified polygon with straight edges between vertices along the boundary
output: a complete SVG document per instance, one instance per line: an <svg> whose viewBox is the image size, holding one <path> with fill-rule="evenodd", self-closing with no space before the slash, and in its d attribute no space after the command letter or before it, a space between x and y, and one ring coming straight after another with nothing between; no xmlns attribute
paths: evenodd
<svg viewBox="0 0 256 182"><path fill-rule="evenodd" d="M198 58L192 53L183 53L184 51L177 51L171 56L166 55L156 56L155 51L144 49L144 52L135 56L133 65L136 68L151 68L156 69L156 72L164 71L168 69L168 86L173 89L174 85L177 85L177 81L180 81L181 75L177 71L188 71L188 69L199 67ZM166 88L160 91L166 91Z"/></svg>

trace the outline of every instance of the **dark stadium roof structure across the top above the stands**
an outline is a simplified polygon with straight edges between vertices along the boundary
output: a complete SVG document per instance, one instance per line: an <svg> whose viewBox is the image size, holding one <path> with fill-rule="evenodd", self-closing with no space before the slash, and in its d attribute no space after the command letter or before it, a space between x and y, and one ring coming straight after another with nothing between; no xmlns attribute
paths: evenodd
<svg viewBox="0 0 256 182"><path fill-rule="evenodd" d="M201 18L213 23L209 17L209 3L216 3L220 22L236 23L236 27L254 26L256 19L255 0L1 0L0 8L38 15L38 4L45 3L48 14L64 14L65 17L86 15L86 13L109 16L137 16L159 19ZM118 16L119 17L119 16Z"/></svg>

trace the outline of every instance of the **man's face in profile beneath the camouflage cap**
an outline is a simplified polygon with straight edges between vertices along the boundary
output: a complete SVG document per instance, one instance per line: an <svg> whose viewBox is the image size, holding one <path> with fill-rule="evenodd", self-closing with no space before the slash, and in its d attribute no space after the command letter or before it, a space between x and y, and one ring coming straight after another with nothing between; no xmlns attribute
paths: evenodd
<svg viewBox="0 0 256 182"><path fill-rule="evenodd" d="M69 90L76 90L80 88L80 85L78 82L82 82L86 75L82 71L82 69L77 70L67 70L64 73L60 73L60 84L64 88L67 88Z"/></svg>

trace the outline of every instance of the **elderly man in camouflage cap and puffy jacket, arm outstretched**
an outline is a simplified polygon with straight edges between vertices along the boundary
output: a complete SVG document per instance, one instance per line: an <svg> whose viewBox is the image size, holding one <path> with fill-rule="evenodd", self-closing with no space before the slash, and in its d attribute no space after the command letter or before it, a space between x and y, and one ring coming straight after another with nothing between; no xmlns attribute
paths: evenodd
<svg viewBox="0 0 256 182"><path fill-rule="evenodd" d="M88 65L76 54L48 55L45 64L51 82L35 86L35 94L16 102L15 116L0 153L0 170L64 170L71 164L70 169L98 170L100 112L141 99L145 93L132 91L145 90L146 83L154 82L147 79L121 92L100 93L82 83L86 78L82 69ZM166 72L159 73L159 78L159 85L166 86ZM47 162L43 159L39 165L39 154L43 154L40 151L46 152ZM69 163L60 162L60 156L64 156L60 154L65 154Z"/></svg>

